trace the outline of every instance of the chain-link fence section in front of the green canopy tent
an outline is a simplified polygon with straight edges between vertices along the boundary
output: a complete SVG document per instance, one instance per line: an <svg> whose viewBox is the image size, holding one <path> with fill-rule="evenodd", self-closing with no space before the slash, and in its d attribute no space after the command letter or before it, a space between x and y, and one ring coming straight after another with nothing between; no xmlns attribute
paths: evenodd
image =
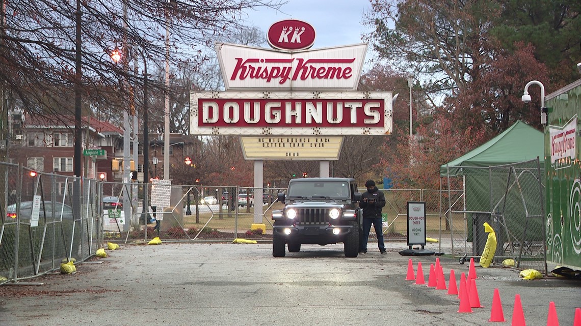
<svg viewBox="0 0 581 326"><path fill-rule="evenodd" d="M489 167L449 166L452 170L458 173L448 173L447 182L461 178L464 185L461 198L449 201L452 230L463 230L464 236L453 247L453 255L480 258L488 238L483 227L486 222L496 234L494 264L504 261L518 269L547 273L544 169L539 160ZM458 216L462 218L454 218Z"/></svg>

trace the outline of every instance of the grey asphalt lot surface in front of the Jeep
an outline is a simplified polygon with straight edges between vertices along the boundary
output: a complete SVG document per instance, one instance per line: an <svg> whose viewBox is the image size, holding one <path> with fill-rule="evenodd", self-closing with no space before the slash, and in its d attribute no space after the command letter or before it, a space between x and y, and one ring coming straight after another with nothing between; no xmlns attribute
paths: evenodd
<svg viewBox="0 0 581 326"><path fill-rule="evenodd" d="M501 324L511 323L515 294L527 325L546 325L551 301L560 325L573 325L581 306L581 281L526 281L493 267L476 268L484 307L458 313L456 295L406 281L410 257L397 253L405 243L388 242L388 255L374 245L357 258L342 244L303 245L285 258L272 258L270 244L122 245L76 274L29 280L44 285L1 286L0 325L485 325L494 288ZM427 282L435 256L413 257L414 269L418 261ZM446 279L450 269L468 274L456 258L440 263Z"/></svg>

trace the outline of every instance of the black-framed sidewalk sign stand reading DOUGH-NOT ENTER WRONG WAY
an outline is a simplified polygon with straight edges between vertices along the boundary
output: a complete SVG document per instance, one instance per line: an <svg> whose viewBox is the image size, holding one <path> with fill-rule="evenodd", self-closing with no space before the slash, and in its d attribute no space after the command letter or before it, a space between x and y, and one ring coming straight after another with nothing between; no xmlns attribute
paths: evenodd
<svg viewBox="0 0 581 326"><path fill-rule="evenodd" d="M433 251L425 249L426 245L426 202L407 202L407 245L408 249L399 252L402 256L431 256ZM421 245L422 248L412 248Z"/></svg>

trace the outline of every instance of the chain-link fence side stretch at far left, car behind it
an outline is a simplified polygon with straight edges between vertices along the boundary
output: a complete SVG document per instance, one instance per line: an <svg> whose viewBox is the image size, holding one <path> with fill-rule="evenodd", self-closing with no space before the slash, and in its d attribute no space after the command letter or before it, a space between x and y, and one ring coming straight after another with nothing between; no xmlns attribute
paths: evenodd
<svg viewBox="0 0 581 326"><path fill-rule="evenodd" d="M95 180L0 163L0 282L94 255L101 234Z"/></svg>

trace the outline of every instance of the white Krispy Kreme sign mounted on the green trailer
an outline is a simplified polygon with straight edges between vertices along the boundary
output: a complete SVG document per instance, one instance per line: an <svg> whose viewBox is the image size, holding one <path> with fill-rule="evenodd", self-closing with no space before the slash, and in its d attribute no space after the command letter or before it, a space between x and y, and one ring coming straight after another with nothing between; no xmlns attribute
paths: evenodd
<svg viewBox="0 0 581 326"><path fill-rule="evenodd" d="M551 164L555 169L571 166L577 153L577 116L567 122L565 126L549 126L551 137Z"/></svg>

